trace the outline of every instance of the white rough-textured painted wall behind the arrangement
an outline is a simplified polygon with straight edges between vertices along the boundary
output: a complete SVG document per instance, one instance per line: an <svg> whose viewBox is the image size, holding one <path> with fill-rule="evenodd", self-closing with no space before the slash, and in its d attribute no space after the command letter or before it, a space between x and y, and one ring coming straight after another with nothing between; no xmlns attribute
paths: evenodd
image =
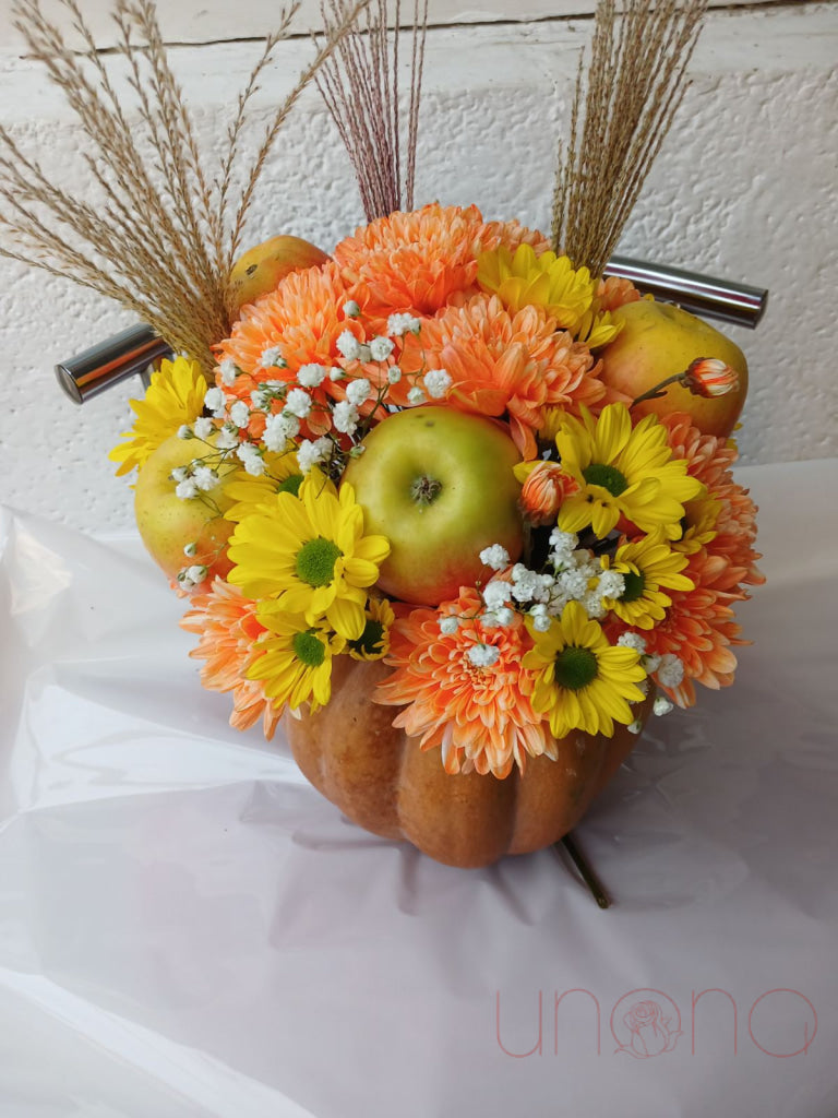
<svg viewBox="0 0 838 1118"><path fill-rule="evenodd" d="M439 28L429 35L418 200L476 202L487 217L549 227L553 150L585 20ZM209 150L257 49L178 48ZM288 86L288 44L268 94ZM838 7L714 12L693 86L620 253L771 290L750 358L741 432L751 463L838 453L830 358L838 291ZM0 117L64 184L85 189L70 117L28 63L0 55ZM263 181L248 239L295 233L328 249L361 219L356 190L315 94L298 105ZM107 449L130 423L131 389L83 408L51 367L130 322L89 293L0 260L0 502L89 531L132 524Z"/></svg>

